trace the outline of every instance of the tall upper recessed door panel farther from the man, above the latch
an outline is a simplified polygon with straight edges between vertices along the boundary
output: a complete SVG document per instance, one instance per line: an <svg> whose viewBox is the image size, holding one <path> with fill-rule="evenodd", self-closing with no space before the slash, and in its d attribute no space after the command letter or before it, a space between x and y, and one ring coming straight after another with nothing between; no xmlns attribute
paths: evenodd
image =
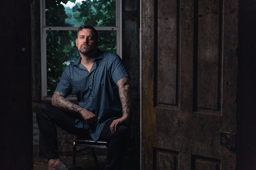
<svg viewBox="0 0 256 170"><path fill-rule="evenodd" d="M195 53L197 70L197 109L219 110L222 66L222 0L195 2ZM197 8L198 7L198 8ZM205 112L205 110L203 110ZM207 111L206 111L207 112Z"/></svg>

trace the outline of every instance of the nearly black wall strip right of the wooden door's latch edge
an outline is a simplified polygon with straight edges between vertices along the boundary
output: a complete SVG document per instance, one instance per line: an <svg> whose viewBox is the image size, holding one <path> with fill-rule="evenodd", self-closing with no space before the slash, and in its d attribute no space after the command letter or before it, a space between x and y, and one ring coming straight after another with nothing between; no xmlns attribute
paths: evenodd
<svg viewBox="0 0 256 170"><path fill-rule="evenodd" d="M239 1L237 170L256 169L256 1Z"/></svg>

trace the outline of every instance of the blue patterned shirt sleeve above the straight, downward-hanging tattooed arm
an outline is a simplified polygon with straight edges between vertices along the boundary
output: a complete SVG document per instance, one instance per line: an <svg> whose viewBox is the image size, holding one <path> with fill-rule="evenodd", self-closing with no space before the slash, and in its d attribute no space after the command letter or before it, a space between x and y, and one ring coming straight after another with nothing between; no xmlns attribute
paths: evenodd
<svg viewBox="0 0 256 170"><path fill-rule="evenodd" d="M113 57L110 67L110 73L115 84L117 84L118 80L124 77L128 77L128 73L123 64L123 61L118 55L114 55Z"/></svg>

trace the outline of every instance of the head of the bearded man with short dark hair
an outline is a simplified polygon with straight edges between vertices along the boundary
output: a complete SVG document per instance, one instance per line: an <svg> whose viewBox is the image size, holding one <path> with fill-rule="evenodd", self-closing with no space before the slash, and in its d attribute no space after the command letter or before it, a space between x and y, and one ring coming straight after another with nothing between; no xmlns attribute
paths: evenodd
<svg viewBox="0 0 256 170"><path fill-rule="evenodd" d="M75 40L77 49L82 54L90 54L98 47L98 40L96 39L94 30L82 29Z"/></svg>

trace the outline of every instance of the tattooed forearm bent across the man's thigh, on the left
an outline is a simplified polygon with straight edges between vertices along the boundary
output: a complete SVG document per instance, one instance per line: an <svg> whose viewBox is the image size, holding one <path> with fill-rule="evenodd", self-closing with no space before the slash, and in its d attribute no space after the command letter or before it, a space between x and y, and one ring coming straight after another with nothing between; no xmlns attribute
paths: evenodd
<svg viewBox="0 0 256 170"><path fill-rule="evenodd" d="M84 109L84 107L70 102L66 97L66 94L55 91L52 97L52 105L71 113L80 113Z"/></svg>

